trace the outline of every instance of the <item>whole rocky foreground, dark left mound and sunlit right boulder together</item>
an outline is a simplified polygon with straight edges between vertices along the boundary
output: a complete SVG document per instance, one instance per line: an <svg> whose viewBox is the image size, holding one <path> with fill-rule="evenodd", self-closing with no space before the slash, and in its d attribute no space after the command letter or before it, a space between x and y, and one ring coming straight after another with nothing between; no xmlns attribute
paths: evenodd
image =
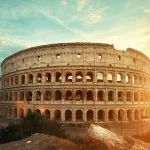
<svg viewBox="0 0 150 150"><path fill-rule="evenodd" d="M20 141L0 145L4 150L150 150L150 143L122 137L98 125L90 125L81 145L50 135L34 134Z"/></svg>

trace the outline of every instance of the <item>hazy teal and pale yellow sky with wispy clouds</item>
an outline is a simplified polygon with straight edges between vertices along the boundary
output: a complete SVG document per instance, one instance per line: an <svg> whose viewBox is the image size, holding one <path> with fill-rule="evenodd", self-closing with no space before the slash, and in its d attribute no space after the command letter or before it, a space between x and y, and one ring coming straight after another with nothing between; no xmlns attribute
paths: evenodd
<svg viewBox="0 0 150 150"><path fill-rule="evenodd" d="M0 62L61 42L110 43L150 57L150 0L0 0Z"/></svg>

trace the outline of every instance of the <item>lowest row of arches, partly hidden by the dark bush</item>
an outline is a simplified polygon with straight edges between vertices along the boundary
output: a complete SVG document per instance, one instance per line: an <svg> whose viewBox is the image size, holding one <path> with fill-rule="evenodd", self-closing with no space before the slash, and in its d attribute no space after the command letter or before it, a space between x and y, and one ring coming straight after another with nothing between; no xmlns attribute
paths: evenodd
<svg viewBox="0 0 150 150"><path fill-rule="evenodd" d="M133 121L149 118L148 109L110 109L109 111L98 110L96 112L94 110L87 110L85 112L80 109L76 111L67 109L63 111L64 115L59 109L56 109L53 112L49 109L45 109L43 112L41 112L40 109L35 109L34 111L45 115L47 119L55 119L58 121ZM31 112L31 109L27 109L25 113L23 108L17 109L11 107L0 107L0 113L2 115L12 118L23 118L25 115Z"/></svg>

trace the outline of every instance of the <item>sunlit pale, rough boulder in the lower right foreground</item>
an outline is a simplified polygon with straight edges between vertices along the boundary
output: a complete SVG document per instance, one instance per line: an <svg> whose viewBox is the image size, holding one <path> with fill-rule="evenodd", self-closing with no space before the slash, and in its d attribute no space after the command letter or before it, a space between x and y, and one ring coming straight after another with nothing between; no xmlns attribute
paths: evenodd
<svg viewBox="0 0 150 150"><path fill-rule="evenodd" d="M91 125L82 150L150 150L150 143L122 137L97 125Z"/></svg>

